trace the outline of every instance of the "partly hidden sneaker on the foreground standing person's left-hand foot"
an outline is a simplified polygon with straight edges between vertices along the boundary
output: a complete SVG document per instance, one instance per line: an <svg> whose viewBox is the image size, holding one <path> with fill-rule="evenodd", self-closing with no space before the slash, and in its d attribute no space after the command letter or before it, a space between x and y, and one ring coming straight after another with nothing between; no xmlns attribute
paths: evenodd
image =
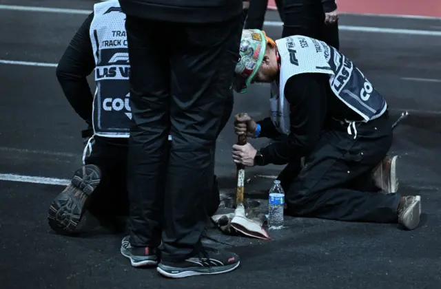
<svg viewBox="0 0 441 289"><path fill-rule="evenodd" d="M126 236L121 242L121 254L130 259L130 264L134 267L156 266L158 264L158 255L156 248L132 247L130 245L130 236Z"/></svg>

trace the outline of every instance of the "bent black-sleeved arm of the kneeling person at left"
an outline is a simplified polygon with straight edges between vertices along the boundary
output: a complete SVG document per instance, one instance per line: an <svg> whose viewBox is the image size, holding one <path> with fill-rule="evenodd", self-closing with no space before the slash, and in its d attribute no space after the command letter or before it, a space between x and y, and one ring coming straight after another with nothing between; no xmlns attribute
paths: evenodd
<svg viewBox="0 0 441 289"><path fill-rule="evenodd" d="M92 124L93 96L87 76L95 68L89 30L93 13L89 15L70 41L57 66L57 78L72 108L85 122Z"/></svg>

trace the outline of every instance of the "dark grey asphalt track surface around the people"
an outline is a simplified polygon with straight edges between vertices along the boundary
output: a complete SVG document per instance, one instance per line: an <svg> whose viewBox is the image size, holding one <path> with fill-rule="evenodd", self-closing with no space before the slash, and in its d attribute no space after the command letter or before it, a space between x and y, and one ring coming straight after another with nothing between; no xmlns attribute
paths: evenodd
<svg viewBox="0 0 441 289"><path fill-rule="evenodd" d="M88 9L89 0L3 0L1 4ZM276 14L267 20L276 21ZM57 63L85 15L0 10L0 59ZM343 17L342 25L441 30L440 20ZM280 27L267 27L278 38ZM0 181L0 288L304 288L380 289L441 287L440 143L441 37L403 33L340 33L347 54L382 92L398 117L391 153L398 164L400 191L422 195L422 224L402 231L394 224L355 224L287 219L273 239L213 237L232 244L241 257L225 275L170 280L156 270L139 270L119 254L121 236L94 226L90 234L54 235L46 213L62 186ZM234 111L267 115L268 85L237 96ZM61 93L53 67L0 63L0 176L18 174L70 178L81 164L83 123ZM229 151L235 142L230 122L218 140L216 171L225 190L234 186ZM258 145L265 141L254 142ZM260 194L275 175L272 166L248 169L246 191ZM191 189L191 187L189 187ZM220 245L219 245L220 246ZM226 246L226 245L222 245Z"/></svg>

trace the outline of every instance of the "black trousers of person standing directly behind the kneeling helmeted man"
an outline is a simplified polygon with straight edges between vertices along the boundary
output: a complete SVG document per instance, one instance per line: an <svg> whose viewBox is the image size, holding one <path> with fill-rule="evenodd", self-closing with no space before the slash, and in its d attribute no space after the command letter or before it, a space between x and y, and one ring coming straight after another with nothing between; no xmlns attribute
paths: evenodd
<svg viewBox="0 0 441 289"><path fill-rule="evenodd" d="M283 0L282 37L303 35L340 48L338 23L325 24L325 11L320 0Z"/></svg>

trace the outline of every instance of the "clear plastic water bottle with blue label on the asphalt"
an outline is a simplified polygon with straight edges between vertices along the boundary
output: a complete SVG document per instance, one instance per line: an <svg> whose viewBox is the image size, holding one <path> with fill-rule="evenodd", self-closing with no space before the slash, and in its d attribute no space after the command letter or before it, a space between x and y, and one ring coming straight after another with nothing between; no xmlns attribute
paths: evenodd
<svg viewBox="0 0 441 289"><path fill-rule="evenodd" d="M280 229L283 227L283 208L285 206L285 192L280 185L280 180L275 180L269 190L268 227Z"/></svg>

